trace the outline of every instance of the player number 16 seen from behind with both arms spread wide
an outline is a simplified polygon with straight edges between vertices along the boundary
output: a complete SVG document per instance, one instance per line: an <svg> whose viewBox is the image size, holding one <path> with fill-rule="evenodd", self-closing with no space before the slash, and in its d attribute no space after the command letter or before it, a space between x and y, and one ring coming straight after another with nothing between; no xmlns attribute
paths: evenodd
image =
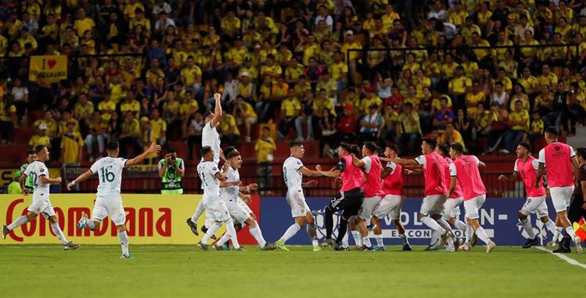
<svg viewBox="0 0 586 298"><path fill-rule="evenodd" d="M88 214L82 214L82 219L77 223L77 228L84 229L87 227L90 231L95 231L99 229L101 221L106 216L110 216L110 219L114 222L118 230L118 238L122 247L121 258L132 258L132 255L128 252L128 235L126 234L125 225L126 213L122 206L122 198L120 196L122 170L128 166L142 164L149 154L158 153L160 149L161 147L159 145L152 143L147 151L136 156L136 158L127 160L118 157L119 144L116 140L110 140L106 145L108 156L94 162L86 173L83 173L67 184L67 189L71 190L75 184L89 179L97 173L99 184L94 209L92 210L92 218L88 219Z"/></svg>

